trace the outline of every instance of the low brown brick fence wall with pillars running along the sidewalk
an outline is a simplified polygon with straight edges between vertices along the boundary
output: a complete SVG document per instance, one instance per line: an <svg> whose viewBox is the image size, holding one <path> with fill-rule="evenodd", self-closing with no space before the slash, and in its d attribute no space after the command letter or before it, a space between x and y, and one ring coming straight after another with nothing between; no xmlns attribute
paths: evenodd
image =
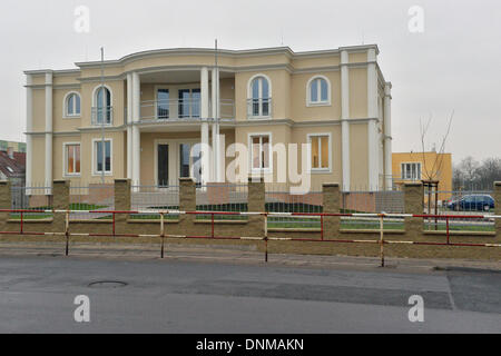
<svg viewBox="0 0 501 356"><path fill-rule="evenodd" d="M67 216L72 212L68 210L69 202L69 182L63 180L58 180L53 182L53 198L52 198L52 210L46 210L46 214L51 214L52 219L49 221L38 221L41 224L31 224L30 221L27 224L28 229L23 230L23 235L46 235L46 236L66 236L67 239L73 236L95 236L95 237L111 237L111 236L129 236L129 237L179 237L179 238L214 238L214 240L218 239L254 239L254 240L263 240L268 243L268 240L273 240L275 245L277 241L289 240L289 241L337 241L337 243L355 243L355 244L380 244L384 246L385 244L409 244L409 245L450 245L450 246L498 246L501 237L501 221L499 218L495 218L495 231L498 237L490 237L490 244L480 244L469 240L464 240L465 244L454 244L446 241L425 241L423 233L423 218L425 217L422 212L422 197L423 197L423 188L421 185L409 184L404 187L404 205L406 209L406 214L404 215L376 215L376 214L345 214L340 210L340 200L341 192L340 186L337 184L325 184L323 186L323 212L322 214L310 214L310 217L318 218L321 221L322 228L314 234L318 234L320 238L308 238L304 237L304 231L294 233L294 231L281 231L284 236L283 238L277 238L276 235L272 236L271 231L267 229L266 219L269 216L281 216L279 214L266 212L266 201L265 201L265 185L263 181L249 181L248 184L248 212L242 212L242 216L247 216L248 220L238 221L238 224L243 224L243 226L236 225L224 225L224 221L218 221L222 224L214 224L214 219L210 221L197 221L196 216L217 216L225 215L225 212L214 212L210 211L196 211L197 202L196 202L196 185L190 179L181 179L179 181L179 211L177 212L178 220L167 221L164 219L166 216L173 214L173 211L156 211L151 214L159 214L161 218L151 221L132 221L129 219L131 214L138 212L147 212L147 211L132 211L130 209L131 199L130 199L130 181L126 179L117 179L115 181L115 208L114 210L100 210L101 215L108 215L107 219L99 220L98 222L102 224L82 224L77 221L71 221L69 224ZM19 225L22 227L22 221L12 221L9 220L9 210L11 208L10 205L10 185L7 182L0 182L0 231L8 233L9 230L12 235L16 235L19 230ZM497 200L495 205L495 215L500 215L500 200L501 200L501 184L497 182L494 185L494 197ZM58 212L56 212L58 210ZM66 210L66 211L65 211ZM14 212L11 210L10 212ZM96 211L87 211L92 215ZM22 212L20 212L22 216ZM228 215L239 215L238 212ZM286 215L283 215L286 216ZM291 214L289 216L307 216L307 214ZM386 233L383 233L384 226L381 231L373 230L371 234L373 237L379 237L377 239L362 239L362 238L348 238L345 231L341 228L341 219L345 217L353 218L363 218L363 217L372 217L374 219L384 222L384 219L391 217L399 217L405 220L404 222L404 231L402 231L402 236L405 237L406 241L399 240L386 240ZM431 216L426 216L431 217ZM451 216L451 219L454 217ZM97 220L87 221L87 222L97 222ZM147 222L147 224L138 224L138 222ZM176 222L176 224L170 224ZM112 224L112 225L111 225ZM158 225L161 225L161 233L158 234ZM210 224L210 225L207 225ZM45 233L33 233L30 231L36 230L39 227L45 227L42 230ZM86 227L90 233L84 233L80 229ZM111 227L112 226L112 227ZM132 228L135 227L135 229ZM210 227L209 227L210 226ZM216 231L214 231L214 227L216 226ZM242 228L244 227L244 228ZM212 233L207 234L208 229L212 228ZM225 230L226 228L226 230ZM21 228L22 231L22 228ZM96 233L99 231L99 233ZM202 233L200 233L202 231ZM223 234L225 233L226 234ZM312 233L312 231L310 231ZM278 234L278 233L275 233ZM294 234L303 234L303 237L295 238ZM312 233L313 234L313 233ZM381 234L381 235L380 235ZM3 234L6 235L6 234ZM289 237L293 236L293 237ZM310 235L311 236L311 235ZM353 235L352 235L353 236ZM367 235L369 237L369 235ZM381 238L383 237L383 239ZM304 245L306 246L306 245ZM163 245L164 247L164 245Z"/></svg>

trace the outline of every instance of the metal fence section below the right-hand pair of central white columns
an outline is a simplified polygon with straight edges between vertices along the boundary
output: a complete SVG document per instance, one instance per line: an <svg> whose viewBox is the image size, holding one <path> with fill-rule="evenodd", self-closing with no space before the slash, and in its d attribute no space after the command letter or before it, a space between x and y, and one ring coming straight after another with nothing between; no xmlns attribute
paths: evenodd
<svg viewBox="0 0 501 356"><path fill-rule="evenodd" d="M248 189L243 184L207 184L197 187L198 211L244 212L248 210ZM198 219L246 220L247 216L198 215Z"/></svg>

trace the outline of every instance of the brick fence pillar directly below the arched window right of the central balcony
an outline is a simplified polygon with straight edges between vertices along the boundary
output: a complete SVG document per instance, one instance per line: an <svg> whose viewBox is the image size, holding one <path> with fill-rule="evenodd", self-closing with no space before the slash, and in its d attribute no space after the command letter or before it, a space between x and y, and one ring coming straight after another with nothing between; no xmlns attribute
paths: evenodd
<svg viewBox="0 0 501 356"><path fill-rule="evenodd" d="M265 184L264 179L261 178L256 181L255 178L248 179L247 185L247 207L250 212L262 212L266 209L265 200ZM265 217L261 215L249 216L248 224L245 233L240 236L246 237L262 237L265 234L264 230Z"/></svg>

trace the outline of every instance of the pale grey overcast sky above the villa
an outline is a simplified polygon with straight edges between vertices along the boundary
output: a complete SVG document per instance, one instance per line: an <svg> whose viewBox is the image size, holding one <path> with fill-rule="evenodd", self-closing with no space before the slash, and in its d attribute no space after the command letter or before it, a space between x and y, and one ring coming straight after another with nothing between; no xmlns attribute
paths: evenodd
<svg viewBox="0 0 501 356"><path fill-rule="evenodd" d="M376 43L393 83L393 151L420 150L420 119L432 117L426 149L441 142L453 160L501 156L501 1L499 0L2 0L0 139L24 141L26 69L69 69L171 47L294 51ZM90 31L75 30L75 9ZM411 32L409 9L424 10Z"/></svg>

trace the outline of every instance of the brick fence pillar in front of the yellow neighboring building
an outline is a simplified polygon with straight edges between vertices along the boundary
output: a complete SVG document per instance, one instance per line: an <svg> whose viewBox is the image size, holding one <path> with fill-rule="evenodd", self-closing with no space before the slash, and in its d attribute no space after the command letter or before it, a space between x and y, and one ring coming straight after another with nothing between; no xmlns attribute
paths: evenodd
<svg viewBox="0 0 501 356"><path fill-rule="evenodd" d="M405 214L423 214L424 189L421 182L407 182L404 185ZM405 218L405 236L415 240L423 236L423 219Z"/></svg>

